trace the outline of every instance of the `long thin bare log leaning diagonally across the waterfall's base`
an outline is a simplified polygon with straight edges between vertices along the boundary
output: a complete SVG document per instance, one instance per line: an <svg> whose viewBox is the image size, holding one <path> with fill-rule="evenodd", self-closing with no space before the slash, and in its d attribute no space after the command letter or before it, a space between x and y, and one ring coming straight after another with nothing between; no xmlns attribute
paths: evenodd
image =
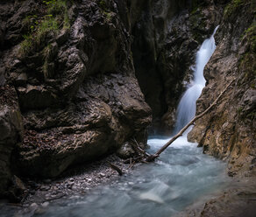
<svg viewBox="0 0 256 217"><path fill-rule="evenodd" d="M172 137L167 144L163 145L159 151L156 151L153 155L150 155L146 158L146 162L151 162L153 161L155 158L159 158L160 153L165 151L167 149L167 147L174 143L174 141L178 138L181 137L182 134L188 129L189 126L193 125L197 119L201 118L202 116L204 116L207 112L210 111L210 109L212 109L218 102L218 100L222 97L222 95L224 95L224 92L227 90L227 88L229 88L231 86L231 83L233 81L231 81L225 88L224 90L217 96L217 99L212 102L212 104L210 105L210 107L208 107L207 109L205 109L203 111L203 113L199 114L198 116L195 116L185 127L183 127L174 137Z"/></svg>

